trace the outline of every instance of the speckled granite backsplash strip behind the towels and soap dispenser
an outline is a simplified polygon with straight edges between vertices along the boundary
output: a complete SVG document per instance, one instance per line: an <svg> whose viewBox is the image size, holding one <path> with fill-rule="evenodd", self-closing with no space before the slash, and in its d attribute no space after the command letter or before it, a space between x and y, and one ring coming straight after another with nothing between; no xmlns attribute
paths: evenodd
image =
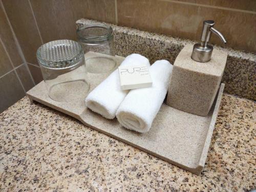
<svg viewBox="0 0 256 192"><path fill-rule="evenodd" d="M91 19L79 19L77 28L91 23L104 23ZM150 33L137 29L108 24L113 28L116 55L127 56L139 53L150 59L151 63L158 59L166 59L174 63L177 55L186 44L195 44L189 39ZM256 54L222 48L228 53L222 82L226 93L256 100Z"/></svg>

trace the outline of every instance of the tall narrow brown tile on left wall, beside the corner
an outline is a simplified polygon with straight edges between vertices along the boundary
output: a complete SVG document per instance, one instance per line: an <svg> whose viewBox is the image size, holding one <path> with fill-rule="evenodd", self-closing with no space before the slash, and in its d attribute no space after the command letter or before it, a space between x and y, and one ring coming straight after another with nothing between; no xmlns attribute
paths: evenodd
<svg viewBox="0 0 256 192"><path fill-rule="evenodd" d="M0 38L10 55L10 59L12 60L14 67L17 67L23 63L23 60L19 55L11 28L2 7L0 7L0 26Z"/></svg>

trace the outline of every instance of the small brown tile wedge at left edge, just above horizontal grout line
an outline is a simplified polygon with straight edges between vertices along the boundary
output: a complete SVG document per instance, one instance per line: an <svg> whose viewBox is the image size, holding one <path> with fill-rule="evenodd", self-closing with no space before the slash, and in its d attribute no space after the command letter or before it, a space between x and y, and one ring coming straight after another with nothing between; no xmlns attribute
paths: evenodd
<svg viewBox="0 0 256 192"><path fill-rule="evenodd" d="M6 51L0 42L0 77L13 69L11 61L8 58Z"/></svg>

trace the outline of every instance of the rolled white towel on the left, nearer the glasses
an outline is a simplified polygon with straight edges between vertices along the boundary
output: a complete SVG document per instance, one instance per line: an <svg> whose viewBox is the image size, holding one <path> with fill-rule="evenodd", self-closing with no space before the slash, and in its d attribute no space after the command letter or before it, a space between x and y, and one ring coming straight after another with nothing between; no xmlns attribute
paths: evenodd
<svg viewBox="0 0 256 192"><path fill-rule="evenodd" d="M150 61L142 55L131 54L127 56L121 66L146 65L150 67ZM102 81L86 98L86 105L92 111L107 119L114 119L117 109L129 90L121 90L118 69Z"/></svg>

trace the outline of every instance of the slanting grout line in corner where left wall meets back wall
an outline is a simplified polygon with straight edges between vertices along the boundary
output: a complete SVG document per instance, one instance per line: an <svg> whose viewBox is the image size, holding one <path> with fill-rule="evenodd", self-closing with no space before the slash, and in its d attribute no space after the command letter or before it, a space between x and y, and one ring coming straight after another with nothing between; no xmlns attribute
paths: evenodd
<svg viewBox="0 0 256 192"><path fill-rule="evenodd" d="M13 30L13 28L12 28L11 22L10 22L10 20L9 20L9 17L8 17L7 13L6 13L6 10L5 10L5 7L4 7L4 4L3 4L2 0L0 1L0 4L1 4L1 7L2 7L2 9L3 9L3 11L4 11L4 14L5 14L5 16L6 16L6 19L7 19L7 22L8 22L8 24L9 24L9 27L10 27L10 29L11 29L12 36L13 36L13 38L14 38L16 47L17 47L17 49L18 49L18 53L19 53L20 57L22 57L23 62L26 63L26 62L27 62L27 61L26 61L26 58L25 58L25 56L24 56L24 54L23 54L22 48L20 47L19 41L18 41L18 39L17 39L17 36L16 36L16 34L14 33L14 30ZM22 65L23 65L24 63L22 63ZM20 65L20 66L21 66L21 65ZM19 66L18 66L18 67L19 67ZM29 76L30 76L30 79L32 80L33 85L35 86L35 81L34 81L34 79L33 79L33 77L32 77L32 74L31 74L29 68L27 67L27 65L26 65L26 69L27 69L27 71L28 71L28 73L29 73ZM23 85L23 84L22 84L22 85ZM25 93L26 93L26 92L25 92Z"/></svg>

